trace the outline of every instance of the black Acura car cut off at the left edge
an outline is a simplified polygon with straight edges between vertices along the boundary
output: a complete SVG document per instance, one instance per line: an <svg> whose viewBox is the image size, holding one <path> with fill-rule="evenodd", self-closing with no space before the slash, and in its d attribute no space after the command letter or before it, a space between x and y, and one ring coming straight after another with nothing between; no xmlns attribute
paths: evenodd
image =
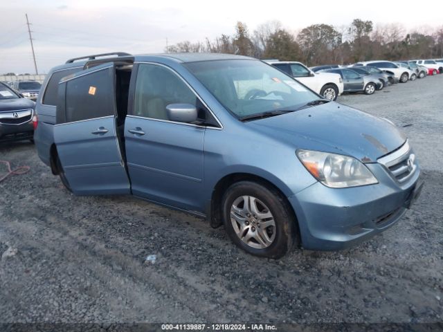
<svg viewBox="0 0 443 332"><path fill-rule="evenodd" d="M0 142L33 140L35 102L0 82Z"/></svg>

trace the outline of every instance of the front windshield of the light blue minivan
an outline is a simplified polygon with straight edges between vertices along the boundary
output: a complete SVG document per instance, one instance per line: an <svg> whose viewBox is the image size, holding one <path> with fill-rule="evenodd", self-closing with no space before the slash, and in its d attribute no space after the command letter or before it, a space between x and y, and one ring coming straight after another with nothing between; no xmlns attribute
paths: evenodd
<svg viewBox="0 0 443 332"><path fill-rule="evenodd" d="M296 111L319 98L292 77L257 60L190 62L186 67L240 120Z"/></svg>

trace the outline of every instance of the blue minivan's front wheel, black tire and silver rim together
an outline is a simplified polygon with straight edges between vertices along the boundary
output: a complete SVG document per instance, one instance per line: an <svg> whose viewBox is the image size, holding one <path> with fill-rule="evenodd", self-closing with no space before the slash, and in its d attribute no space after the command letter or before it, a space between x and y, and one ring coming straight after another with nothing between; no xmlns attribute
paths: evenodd
<svg viewBox="0 0 443 332"><path fill-rule="evenodd" d="M278 259L298 242L295 217L277 190L240 181L226 190L222 202L226 232L249 254Z"/></svg>

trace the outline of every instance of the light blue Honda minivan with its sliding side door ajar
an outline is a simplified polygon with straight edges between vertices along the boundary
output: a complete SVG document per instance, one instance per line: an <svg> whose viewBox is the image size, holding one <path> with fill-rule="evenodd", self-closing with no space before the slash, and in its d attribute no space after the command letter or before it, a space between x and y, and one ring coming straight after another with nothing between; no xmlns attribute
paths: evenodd
<svg viewBox="0 0 443 332"><path fill-rule="evenodd" d="M338 250L396 223L422 189L388 120L237 55L111 53L53 68L39 157L73 194L132 194L224 225L253 255Z"/></svg>

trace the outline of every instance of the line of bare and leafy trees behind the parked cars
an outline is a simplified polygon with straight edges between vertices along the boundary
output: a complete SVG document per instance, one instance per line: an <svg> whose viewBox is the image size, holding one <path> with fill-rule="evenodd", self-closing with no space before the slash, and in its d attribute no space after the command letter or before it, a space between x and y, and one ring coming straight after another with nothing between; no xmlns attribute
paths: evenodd
<svg viewBox="0 0 443 332"><path fill-rule="evenodd" d="M426 30L426 31L424 31ZM237 22L234 35L220 35L203 42L179 42L168 53L206 52L248 55L258 59L296 60L320 64L352 64L371 59L443 58L443 26L406 32L401 24L374 26L354 19L352 24L313 24L293 34L280 21L269 21L251 33Z"/></svg>

